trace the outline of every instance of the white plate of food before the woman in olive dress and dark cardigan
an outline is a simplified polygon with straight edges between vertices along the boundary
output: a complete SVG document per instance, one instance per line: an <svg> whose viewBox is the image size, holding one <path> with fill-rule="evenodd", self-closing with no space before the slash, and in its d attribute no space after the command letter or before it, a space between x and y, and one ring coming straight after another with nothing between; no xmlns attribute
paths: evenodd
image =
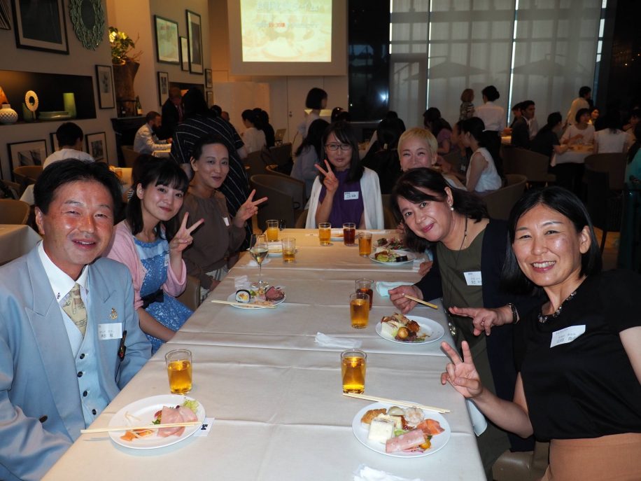
<svg viewBox="0 0 641 481"><path fill-rule="evenodd" d="M386 341L398 344L428 344L439 340L445 334L443 326L427 317L403 316L395 313L383 319L386 321L376 324L376 334Z"/></svg>

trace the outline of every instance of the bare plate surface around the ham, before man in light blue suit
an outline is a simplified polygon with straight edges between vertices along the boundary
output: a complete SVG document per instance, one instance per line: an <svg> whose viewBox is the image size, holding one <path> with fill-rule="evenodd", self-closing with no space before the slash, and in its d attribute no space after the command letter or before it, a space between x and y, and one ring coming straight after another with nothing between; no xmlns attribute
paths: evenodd
<svg viewBox="0 0 641 481"><path fill-rule="evenodd" d="M181 396L179 394L162 394L160 396L151 396L150 398L137 400L116 412L111 418L111 421L109 421L109 427L127 425L146 426L148 424L152 424L154 414L157 411L162 410L162 407L176 407L183 404L185 400L195 399L190 398L189 396ZM201 403L198 403L198 409L196 411L196 417L198 418L198 421L202 423L205 419L205 408ZM183 431L183 434L180 436L170 435L167 436L167 438L161 438L157 434L151 434L144 438L134 439L132 441L120 439L120 436L124 435L125 431L111 431L109 436L113 442L123 447L129 447L131 449L156 449L158 447L171 446L176 444L176 442L184 441L199 429L200 424L196 424L195 426L185 427L185 431Z"/></svg>

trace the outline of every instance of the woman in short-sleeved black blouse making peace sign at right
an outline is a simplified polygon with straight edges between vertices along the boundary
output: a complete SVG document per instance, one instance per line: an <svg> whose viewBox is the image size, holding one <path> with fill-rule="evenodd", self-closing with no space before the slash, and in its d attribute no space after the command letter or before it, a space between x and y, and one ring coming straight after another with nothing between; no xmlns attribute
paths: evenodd
<svg viewBox="0 0 641 481"><path fill-rule="evenodd" d="M548 298L515 326L514 401L484 388L467 343L463 361L442 344L453 361L442 384L498 426L550 440L542 480L640 480L641 277L600 272L590 218L563 188L526 193L508 234L503 280Z"/></svg>

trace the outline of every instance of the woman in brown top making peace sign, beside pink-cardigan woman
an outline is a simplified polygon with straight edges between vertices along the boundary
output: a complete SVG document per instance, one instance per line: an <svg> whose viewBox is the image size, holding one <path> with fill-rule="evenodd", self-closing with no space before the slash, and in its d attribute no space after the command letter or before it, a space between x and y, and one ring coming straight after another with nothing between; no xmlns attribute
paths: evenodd
<svg viewBox="0 0 641 481"><path fill-rule="evenodd" d="M258 212L258 204L267 200L253 200L254 190L236 216L230 217L225 195L218 191L230 170L228 152L220 137L205 137L195 144L191 158L194 177L181 209L195 216L192 218L204 219L192 233L192 245L183 252L187 273L200 280L202 298L227 274L227 258L245 239L245 221Z"/></svg>

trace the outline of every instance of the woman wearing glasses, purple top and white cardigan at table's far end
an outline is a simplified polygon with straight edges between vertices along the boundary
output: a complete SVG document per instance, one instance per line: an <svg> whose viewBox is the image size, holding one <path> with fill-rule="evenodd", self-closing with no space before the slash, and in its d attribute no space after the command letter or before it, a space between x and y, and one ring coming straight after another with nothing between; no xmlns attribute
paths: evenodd
<svg viewBox="0 0 641 481"><path fill-rule="evenodd" d="M379 176L363 167L358 141L349 123L333 123L323 133L325 168L316 165L320 176L311 188L306 228L320 222L340 226L355 223L360 229L383 229L383 203Z"/></svg>

